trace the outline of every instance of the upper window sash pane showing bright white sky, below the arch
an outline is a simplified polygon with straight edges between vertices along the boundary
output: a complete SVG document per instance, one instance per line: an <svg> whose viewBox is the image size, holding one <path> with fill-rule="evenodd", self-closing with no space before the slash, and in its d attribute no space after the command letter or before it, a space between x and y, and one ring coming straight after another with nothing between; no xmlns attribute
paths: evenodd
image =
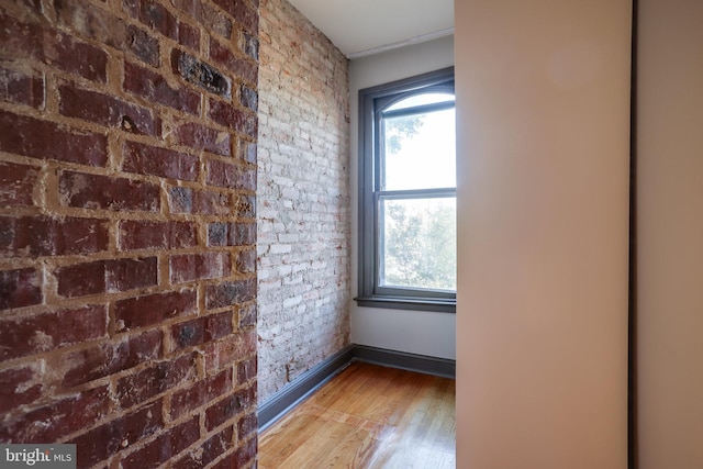
<svg viewBox="0 0 703 469"><path fill-rule="evenodd" d="M455 111L386 118L381 190L456 187Z"/></svg>

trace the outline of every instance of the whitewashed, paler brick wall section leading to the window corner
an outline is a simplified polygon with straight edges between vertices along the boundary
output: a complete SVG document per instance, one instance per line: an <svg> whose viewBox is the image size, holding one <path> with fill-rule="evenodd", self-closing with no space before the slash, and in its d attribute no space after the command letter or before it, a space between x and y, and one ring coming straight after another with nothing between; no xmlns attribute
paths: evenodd
<svg viewBox="0 0 703 469"><path fill-rule="evenodd" d="M259 402L349 343L348 63L260 1Z"/></svg>

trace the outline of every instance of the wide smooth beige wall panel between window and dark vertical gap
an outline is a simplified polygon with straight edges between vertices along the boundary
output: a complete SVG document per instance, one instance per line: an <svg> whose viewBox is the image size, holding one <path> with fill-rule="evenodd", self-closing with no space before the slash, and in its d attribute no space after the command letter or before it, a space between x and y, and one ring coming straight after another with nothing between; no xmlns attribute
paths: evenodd
<svg viewBox="0 0 703 469"><path fill-rule="evenodd" d="M626 467L631 2L456 2L458 467Z"/></svg>

